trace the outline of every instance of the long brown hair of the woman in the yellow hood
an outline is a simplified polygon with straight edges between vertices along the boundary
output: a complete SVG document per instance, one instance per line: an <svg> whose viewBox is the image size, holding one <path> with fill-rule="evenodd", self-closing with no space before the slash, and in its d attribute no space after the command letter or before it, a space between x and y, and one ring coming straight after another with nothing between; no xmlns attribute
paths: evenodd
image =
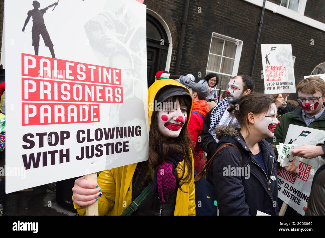
<svg viewBox="0 0 325 238"><path fill-rule="evenodd" d="M189 96L174 96L172 102L176 102L176 99L179 100L181 106L187 106L187 118L189 118L189 112L191 108L192 101L190 100ZM167 102L167 100L165 101ZM157 111L152 112L151 116L151 125L149 131L149 165L152 169L156 170L157 167L162 164L165 158L168 155L168 151L174 150L176 153L184 154L185 166L187 167L187 174L185 174L185 168L181 168L181 173L176 176L176 184L179 189L183 184L186 184L192 179L192 140L188 135L187 130L188 120L185 122L180 134L176 138L165 137L158 129L158 118L157 118ZM157 150L161 148L162 142L162 157L158 155ZM146 163L143 163L146 164ZM151 176L151 171L149 170L148 165L145 166L144 169L146 175L144 181L147 181ZM176 168L175 174L177 175ZM141 184L142 184L141 183Z"/></svg>

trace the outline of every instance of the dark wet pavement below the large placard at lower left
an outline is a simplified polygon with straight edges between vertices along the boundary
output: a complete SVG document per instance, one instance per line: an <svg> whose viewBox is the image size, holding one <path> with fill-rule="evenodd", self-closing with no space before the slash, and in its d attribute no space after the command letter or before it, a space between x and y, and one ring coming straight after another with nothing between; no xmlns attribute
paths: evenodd
<svg viewBox="0 0 325 238"><path fill-rule="evenodd" d="M14 192L6 196L4 216L42 215L42 216L74 216L76 212L61 207L55 193L46 192L47 184L33 187L32 192Z"/></svg>

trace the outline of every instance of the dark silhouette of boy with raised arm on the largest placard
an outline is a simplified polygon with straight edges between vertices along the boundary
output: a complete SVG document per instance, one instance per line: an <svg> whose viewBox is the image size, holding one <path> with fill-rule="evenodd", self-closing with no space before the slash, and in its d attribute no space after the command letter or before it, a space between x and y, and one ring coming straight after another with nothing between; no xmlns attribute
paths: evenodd
<svg viewBox="0 0 325 238"><path fill-rule="evenodd" d="M47 9L51 8L52 6L57 6L58 3L53 3L52 5L45 7L44 9L38 10L40 8L40 3L38 1L33 1L33 10L28 11L27 18L25 20L24 27L22 31L25 32L25 27L31 17L33 17L33 27L32 27L32 46L34 46L35 55L38 55L38 47L40 42L40 35L44 40L45 46L47 46L51 52L52 58L55 58L53 43L50 38L50 35L47 32L43 15ZM53 9L54 10L54 9Z"/></svg>

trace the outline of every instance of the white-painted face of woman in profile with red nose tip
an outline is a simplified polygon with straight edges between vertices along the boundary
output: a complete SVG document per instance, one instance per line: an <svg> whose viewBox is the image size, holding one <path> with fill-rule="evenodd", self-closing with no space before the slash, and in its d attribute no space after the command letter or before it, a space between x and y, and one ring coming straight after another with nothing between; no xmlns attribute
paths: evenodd
<svg viewBox="0 0 325 238"><path fill-rule="evenodd" d="M276 115L277 107L272 103L266 112L259 115L255 121L254 127L260 134L265 135L266 137L273 137L275 128L280 124Z"/></svg>

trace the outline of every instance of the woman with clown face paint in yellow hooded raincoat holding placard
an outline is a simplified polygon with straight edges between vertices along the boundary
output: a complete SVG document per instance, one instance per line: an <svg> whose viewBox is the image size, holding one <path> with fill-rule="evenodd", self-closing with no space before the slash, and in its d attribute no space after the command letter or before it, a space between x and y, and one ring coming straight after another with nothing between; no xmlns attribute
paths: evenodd
<svg viewBox="0 0 325 238"><path fill-rule="evenodd" d="M79 215L97 200L99 215L121 215L149 184L150 193L132 206L132 215L195 215L194 162L187 133L192 97L185 86L163 79L149 87L148 103L148 161L101 171L98 185L77 179L72 191Z"/></svg>

